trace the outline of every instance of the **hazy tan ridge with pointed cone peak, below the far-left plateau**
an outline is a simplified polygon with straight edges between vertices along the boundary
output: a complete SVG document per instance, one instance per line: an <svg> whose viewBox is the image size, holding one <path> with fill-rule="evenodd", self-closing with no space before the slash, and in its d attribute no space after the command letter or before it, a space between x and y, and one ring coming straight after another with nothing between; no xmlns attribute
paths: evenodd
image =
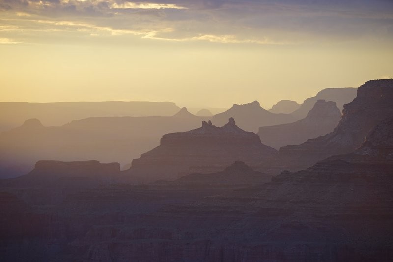
<svg viewBox="0 0 393 262"><path fill-rule="evenodd" d="M208 119L186 108L174 116L94 117L59 127L44 127L30 119L0 134L0 177L24 175L40 159L96 159L125 165L159 145L164 134L197 128Z"/></svg>

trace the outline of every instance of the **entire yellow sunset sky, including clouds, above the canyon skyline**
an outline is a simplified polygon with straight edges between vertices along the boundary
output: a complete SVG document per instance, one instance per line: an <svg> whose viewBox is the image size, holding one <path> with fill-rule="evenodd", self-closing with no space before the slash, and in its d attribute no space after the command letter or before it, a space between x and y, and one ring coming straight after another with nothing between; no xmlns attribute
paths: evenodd
<svg viewBox="0 0 393 262"><path fill-rule="evenodd" d="M392 0L0 0L0 101L268 109L392 77Z"/></svg>

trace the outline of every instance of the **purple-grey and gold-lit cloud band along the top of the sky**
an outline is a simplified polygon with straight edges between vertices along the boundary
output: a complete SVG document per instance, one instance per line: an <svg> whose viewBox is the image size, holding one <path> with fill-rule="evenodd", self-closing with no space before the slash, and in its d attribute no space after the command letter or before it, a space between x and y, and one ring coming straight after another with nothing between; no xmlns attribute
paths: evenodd
<svg viewBox="0 0 393 262"><path fill-rule="evenodd" d="M393 38L393 2L383 0L2 0L0 9L1 25L21 30L5 35L0 28L0 37L15 41L39 30L66 31L70 40L74 33L75 41L81 35L280 45ZM48 22L43 27L38 20Z"/></svg>

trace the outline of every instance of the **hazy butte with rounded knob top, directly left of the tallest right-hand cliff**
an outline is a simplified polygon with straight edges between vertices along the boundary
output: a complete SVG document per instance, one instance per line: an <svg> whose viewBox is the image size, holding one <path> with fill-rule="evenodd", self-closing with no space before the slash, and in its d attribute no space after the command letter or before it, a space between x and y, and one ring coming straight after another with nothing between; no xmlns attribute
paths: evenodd
<svg viewBox="0 0 393 262"><path fill-rule="evenodd" d="M341 112L335 102L318 100L306 118L289 124L260 127L258 135L263 144L279 149L326 135L335 129L340 119Z"/></svg>

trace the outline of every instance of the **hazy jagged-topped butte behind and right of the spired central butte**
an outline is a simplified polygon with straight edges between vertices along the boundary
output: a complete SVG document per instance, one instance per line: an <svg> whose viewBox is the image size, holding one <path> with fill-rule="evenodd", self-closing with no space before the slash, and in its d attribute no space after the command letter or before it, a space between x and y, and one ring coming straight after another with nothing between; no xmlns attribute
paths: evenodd
<svg viewBox="0 0 393 262"><path fill-rule="evenodd" d="M258 101L249 104L234 104L223 113L213 116L213 122L217 125L224 125L228 118L236 119L240 128L246 131L257 132L261 126L270 126L283 123L290 123L295 118L288 114L275 114L263 109Z"/></svg>

